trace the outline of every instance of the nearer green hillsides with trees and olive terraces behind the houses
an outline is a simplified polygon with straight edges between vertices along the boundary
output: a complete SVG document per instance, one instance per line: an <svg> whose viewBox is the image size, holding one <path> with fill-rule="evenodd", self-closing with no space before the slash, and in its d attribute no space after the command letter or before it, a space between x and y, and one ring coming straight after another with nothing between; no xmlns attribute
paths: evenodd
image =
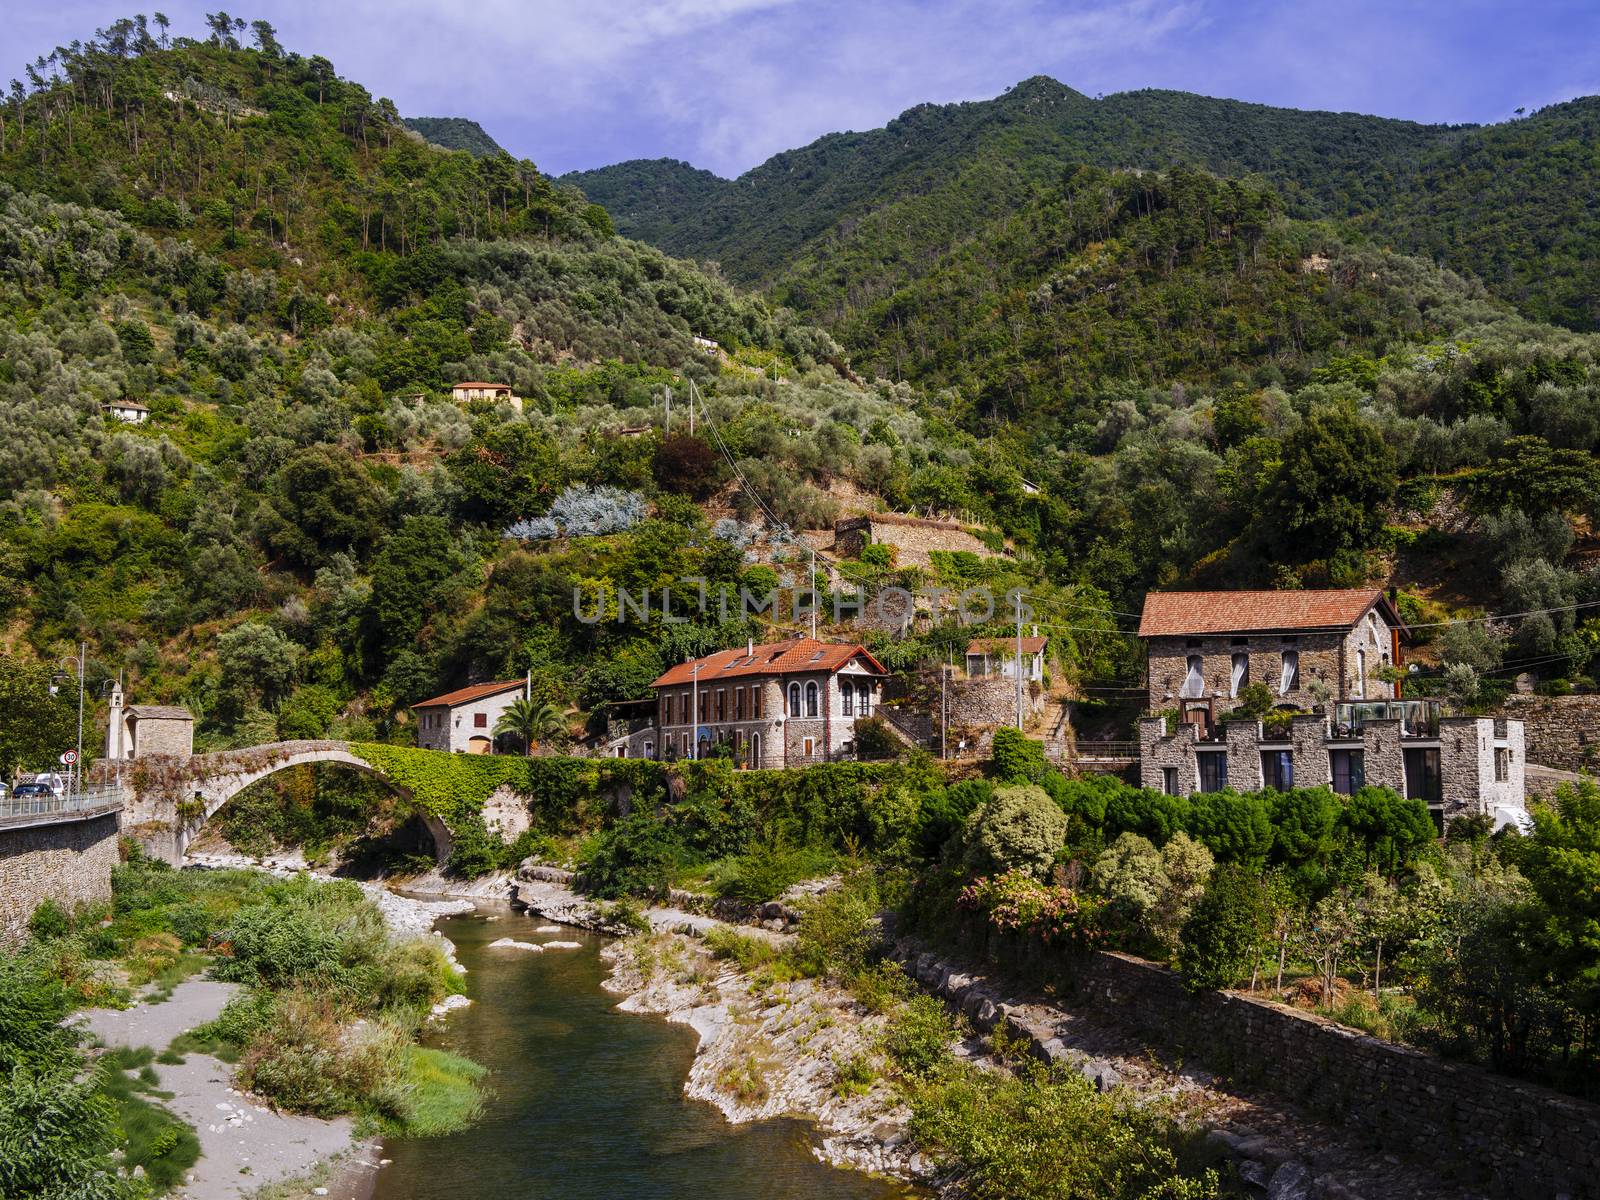
<svg viewBox="0 0 1600 1200"><path fill-rule="evenodd" d="M950 173L918 165L939 110L912 114L894 205L779 288L829 333L531 163L427 146L325 59L230 37L106 30L0 147L0 645L85 640L203 744L406 741L410 702L528 669L576 725L773 630L677 594L594 624L574 595L795 582L779 526L862 509L960 515L1011 554L875 549L843 579L1024 587L1078 678L1131 670L1115 613L1150 586L1384 579L1515 611L1595 587L1563 520L1595 494L1594 338L1261 178L981 165L997 122L1021 146L1032 107L1101 102L963 106L978 165ZM893 158L874 134L830 154L856 142ZM462 378L522 411L453 403ZM909 666L971 632L869 637ZM1590 632L1523 622L1478 667L1581 675Z"/></svg>

